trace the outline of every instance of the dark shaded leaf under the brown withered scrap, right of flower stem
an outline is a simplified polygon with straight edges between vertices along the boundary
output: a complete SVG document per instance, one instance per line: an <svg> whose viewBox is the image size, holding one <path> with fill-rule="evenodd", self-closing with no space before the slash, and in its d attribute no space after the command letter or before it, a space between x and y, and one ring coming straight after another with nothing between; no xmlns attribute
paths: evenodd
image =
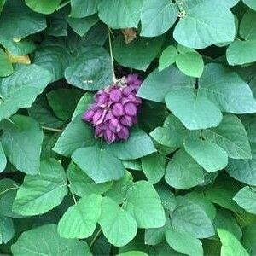
<svg viewBox="0 0 256 256"><path fill-rule="evenodd" d="M160 52L164 40L165 37L137 37L130 44L125 44L125 38L119 36L113 41L113 57L124 67L145 71ZM137 56L137 58L134 58L134 56ZM140 61L137 61L138 59Z"/></svg>

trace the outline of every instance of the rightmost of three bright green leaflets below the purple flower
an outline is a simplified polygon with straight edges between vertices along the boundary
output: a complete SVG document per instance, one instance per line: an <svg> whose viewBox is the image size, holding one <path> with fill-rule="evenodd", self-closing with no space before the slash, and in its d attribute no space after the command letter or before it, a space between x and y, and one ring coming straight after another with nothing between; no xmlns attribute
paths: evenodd
<svg viewBox="0 0 256 256"><path fill-rule="evenodd" d="M160 228L166 223L164 208L152 184L139 181L128 190L124 209L137 221L138 228Z"/></svg>

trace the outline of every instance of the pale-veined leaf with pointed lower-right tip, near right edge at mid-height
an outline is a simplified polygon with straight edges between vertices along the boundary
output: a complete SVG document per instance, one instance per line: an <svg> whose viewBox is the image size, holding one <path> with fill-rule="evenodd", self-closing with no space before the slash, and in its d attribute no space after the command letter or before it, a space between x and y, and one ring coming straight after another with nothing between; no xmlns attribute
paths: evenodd
<svg viewBox="0 0 256 256"><path fill-rule="evenodd" d="M247 132L236 115L224 115L217 128L203 131L203 137L224 148L230 158L252 158Z"/></svg>

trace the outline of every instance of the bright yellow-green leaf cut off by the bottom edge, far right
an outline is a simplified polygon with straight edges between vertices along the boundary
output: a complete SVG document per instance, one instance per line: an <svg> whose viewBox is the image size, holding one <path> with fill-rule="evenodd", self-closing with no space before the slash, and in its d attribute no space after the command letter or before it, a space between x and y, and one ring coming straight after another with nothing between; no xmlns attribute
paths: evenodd
<svg viewBox="0 0 256 256"><path fill-rule="evenodd" d="M242 247L240 241L237 240L236 236L231 234L229 231L219 229L218 236L222 244L220 253L221 256L249 256L247 250Z"/></svg>

